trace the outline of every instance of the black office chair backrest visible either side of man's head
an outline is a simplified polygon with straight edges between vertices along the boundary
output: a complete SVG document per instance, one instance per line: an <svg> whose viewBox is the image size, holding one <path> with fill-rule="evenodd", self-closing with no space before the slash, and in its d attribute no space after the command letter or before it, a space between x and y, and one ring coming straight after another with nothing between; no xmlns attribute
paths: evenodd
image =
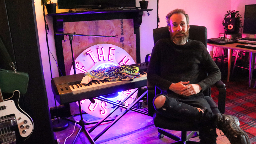
<svg viewBox="0 0 256 144"><path fill-rule="evenodd" d="M189 25L189 39L201 41L207 46L207 29L205 26ZM160 39L170 38L168 26L153 29L154 44Z"/></svg>

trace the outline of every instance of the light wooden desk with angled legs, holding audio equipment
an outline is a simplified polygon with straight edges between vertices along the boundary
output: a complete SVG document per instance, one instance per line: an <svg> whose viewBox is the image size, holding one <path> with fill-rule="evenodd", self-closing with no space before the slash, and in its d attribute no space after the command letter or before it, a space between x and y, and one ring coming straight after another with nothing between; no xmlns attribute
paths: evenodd
<svg viewBox="0 0 256 144"><path fill-rule="evenodd" d="M250 52L250 64L249 64L249 86L251 86L251 81L252 81L252 72L253 72L253 67L254 67L254 62L255 62L255 53L256 50L253 49L246 49L242 47L236 47L236 45L246 45L246 44L238 44L238 43L233 43L233 44L226 44L226 45L217 45L217 44L207 44L210 46L210 54L212 57L213 54L213 47L220 47L220 48L225 48L228 49L228 77L227 81L229 82L230 79L230 70L231 70L231 59L232 59L232 54L233 50L239 50L239 51L246 51Z"/></svg>

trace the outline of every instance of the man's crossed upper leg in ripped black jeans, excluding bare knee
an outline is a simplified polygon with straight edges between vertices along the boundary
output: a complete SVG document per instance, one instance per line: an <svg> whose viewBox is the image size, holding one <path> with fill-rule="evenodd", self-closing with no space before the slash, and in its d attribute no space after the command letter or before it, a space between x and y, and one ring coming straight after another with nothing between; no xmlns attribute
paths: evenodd
<svg viewBox="0 0 256 144"><path fill-rule="evenodd" d="M154 100L164 94L157 94ZM176 118L183 121L198 121L206 122L212 121L215 115L212 113L209 103L205 100L204 96L195 96L190 97L180 96L177 97L174 95L164 95L166 101L162 108L157 109L156 111L168 118Z"/></svg>

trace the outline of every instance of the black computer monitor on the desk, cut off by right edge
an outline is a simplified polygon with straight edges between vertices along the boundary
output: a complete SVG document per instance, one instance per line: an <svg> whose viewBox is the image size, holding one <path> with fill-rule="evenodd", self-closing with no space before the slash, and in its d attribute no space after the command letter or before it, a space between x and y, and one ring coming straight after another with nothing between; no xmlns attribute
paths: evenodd
<svg viewBox="0 0 256 144"><path fill-rule="evenodd" d="M245 5L243 33L256 34L256 4Z"/></svg>

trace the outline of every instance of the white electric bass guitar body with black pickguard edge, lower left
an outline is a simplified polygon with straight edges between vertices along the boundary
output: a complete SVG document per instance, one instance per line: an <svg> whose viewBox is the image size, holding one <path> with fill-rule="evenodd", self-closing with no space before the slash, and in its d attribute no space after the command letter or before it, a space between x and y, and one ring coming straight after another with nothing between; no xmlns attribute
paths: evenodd
<svg viewBox="0 0 256 144"><path fill-rule="evenodd" d="M15 92L15 91L14 91ZM27 114L15 106L19 104L14 100L4 101L0 89L0 143L15 144L16 138L25 139L30 136L34 126L32 119L28 118ZM25 115L25 114L26 115ZM30 116L29 116L30 117Z"/></svg>

